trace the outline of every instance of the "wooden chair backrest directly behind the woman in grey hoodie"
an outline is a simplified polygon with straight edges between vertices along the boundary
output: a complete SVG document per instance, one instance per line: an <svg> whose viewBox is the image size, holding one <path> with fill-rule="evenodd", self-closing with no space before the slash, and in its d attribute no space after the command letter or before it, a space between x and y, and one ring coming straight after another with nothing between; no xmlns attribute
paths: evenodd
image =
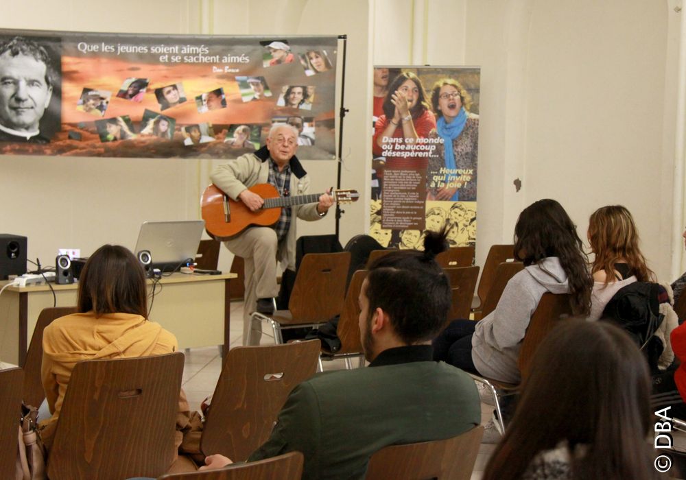
<svg viewBox="0 0 686 480"><path fill-rule="evenodd" d="M526 333L519 349L517 365L519 365L522 379L528 376L534 353L539 348L545 335L561 319L572 315L571 304L569 303L570 298L569 293L543 293L538 307L534 310L534 314L531 315L529 326L526 328Z"/></svg>

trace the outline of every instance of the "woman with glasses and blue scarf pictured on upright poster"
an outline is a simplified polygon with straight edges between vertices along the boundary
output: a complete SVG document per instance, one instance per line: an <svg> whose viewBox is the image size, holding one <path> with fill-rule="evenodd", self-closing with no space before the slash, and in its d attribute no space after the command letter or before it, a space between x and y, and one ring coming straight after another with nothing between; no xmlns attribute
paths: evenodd
<svg viewBox="0 0 686 480"><path fill-rule="evenodd" d="M476 200L479 116L469 112L469 93L457 80L443 78L434 84L431 106L438 121L429 138L443 142L429 158L427 200ZM440 172L444 167L447 173ZM460 169L472 173L458 173Z"/></svg>

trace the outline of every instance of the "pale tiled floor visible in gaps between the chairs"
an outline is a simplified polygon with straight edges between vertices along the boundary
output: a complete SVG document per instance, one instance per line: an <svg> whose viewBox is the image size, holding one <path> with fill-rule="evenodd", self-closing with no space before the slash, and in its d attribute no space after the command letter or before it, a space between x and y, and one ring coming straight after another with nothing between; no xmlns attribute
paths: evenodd
<svg viewBox="0 0 686 480"><path fill-rule="evenodd" d="M243 303L234 302L231 305L230 338L231 348L242 344L243 340ZM263 336L263 343L271 342L270 337ZM353 360L353 365L357 361ZM340 370L344 367L342 360L324 362L324 370ZM183 369L183 389L191 405L191 409L200 410L200 402L214 392L214 387L222 371L222 361L219 348L216 346L193 348L187 350ZM493 407L482 403L482 424L490 420ZM482 444L476 460L472 480L480 480L486 467L488 458L495 448L494 444Z"/></svg>

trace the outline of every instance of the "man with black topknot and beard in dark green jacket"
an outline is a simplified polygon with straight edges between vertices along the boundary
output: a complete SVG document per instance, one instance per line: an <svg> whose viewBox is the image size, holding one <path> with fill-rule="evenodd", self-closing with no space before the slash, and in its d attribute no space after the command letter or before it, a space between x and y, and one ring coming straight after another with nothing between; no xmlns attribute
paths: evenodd
<svg viewBox="0 0 686 480"><path fill-rule="evenodd" d="M248 461L300 451L303 479L363 479L370 455L384 446L445 439L480 423L474 382L431 361L430 339L451 302L449 281L434 260L442 250L445 234L429 233L425 252L392 252L370 267L359 294L369 368L300 383ZM221 468L230 460L211 455L206 463Z"/></svg>

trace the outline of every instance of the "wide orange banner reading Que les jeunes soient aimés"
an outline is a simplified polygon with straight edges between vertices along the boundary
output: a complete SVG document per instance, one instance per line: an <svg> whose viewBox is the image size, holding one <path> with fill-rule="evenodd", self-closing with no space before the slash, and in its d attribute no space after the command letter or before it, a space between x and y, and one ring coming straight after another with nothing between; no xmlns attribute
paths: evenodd
<svg viewBox="0 0 686 480"><path fill-rule="evenodd" d="M237 158L273 123L335 158L337 36L0 30L0 154Z"/></svg>

